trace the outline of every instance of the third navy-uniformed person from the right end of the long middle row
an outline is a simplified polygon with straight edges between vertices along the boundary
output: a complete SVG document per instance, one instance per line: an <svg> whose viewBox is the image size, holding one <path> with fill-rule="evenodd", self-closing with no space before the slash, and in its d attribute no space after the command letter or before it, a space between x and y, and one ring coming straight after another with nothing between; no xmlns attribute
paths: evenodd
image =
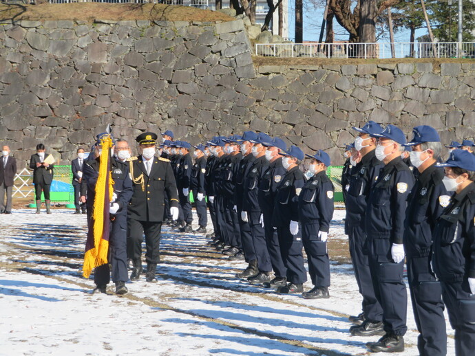
<svg viewBox="0 0 475 356"><path fill-rule="evenodd" d="M287 285L287 268L284 265L284 260L282 260L279 236L277 236L277 229L272 225L272 217L277 188L282 181L282 177L287 173L287 170L282 166L282 153L287 150L287 146L278 137L275 137L272 142L264 142L263 144L267 148L266 159L269 165L259 185L259 205L264 216L266 245L275 275L270 282L264 283L264 287L285 287Z"/></svg>

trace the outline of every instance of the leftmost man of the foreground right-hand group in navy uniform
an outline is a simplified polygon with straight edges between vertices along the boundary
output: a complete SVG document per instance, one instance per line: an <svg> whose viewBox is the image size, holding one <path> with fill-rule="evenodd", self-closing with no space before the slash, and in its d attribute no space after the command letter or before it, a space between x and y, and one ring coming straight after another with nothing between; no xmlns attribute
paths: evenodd
<svg viewBox="0 0 475 356"><path fill-rule="evenodd" d="M374 294L364 221L371 188L376 183L379 170L384 166L374 155L377 139L371 135L380 133L383 129L374 121L367 122L361 128L352 129L358 132L355 139L356 159L352 159L359 162L352 170L348 181L345 232L348 235L359 293L363 297L361 302L363 312L358 316L350 316L350 322L355 324L350 328L350 332L355 336L382 335L383 309Z"/></svg>

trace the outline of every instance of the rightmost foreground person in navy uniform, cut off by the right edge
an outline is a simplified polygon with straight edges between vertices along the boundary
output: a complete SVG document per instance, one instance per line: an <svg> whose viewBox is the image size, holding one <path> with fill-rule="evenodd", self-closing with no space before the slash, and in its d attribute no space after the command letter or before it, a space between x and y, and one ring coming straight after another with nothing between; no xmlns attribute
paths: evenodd
<svg viewBox="0 0 475 356"><path fill-rule="evenodd" d="M432 266L455 329L455 355L471 356L475 350L475 157L455 150L440 166L445 167L445 188L455 194L432 232Z"/></svg>

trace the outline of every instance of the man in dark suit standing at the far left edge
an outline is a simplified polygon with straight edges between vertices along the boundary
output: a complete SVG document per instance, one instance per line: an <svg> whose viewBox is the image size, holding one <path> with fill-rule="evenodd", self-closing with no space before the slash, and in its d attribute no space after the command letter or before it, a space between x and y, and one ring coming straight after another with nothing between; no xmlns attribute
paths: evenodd
<svg viewBox="0 0 475 356"><path fill-rule="evenodd" d="M0 163L0 214L12 213L13 181L17 174L17 160L10 155L10 147L3 146ZM5 203L5 195L7 201Z"/></svg>

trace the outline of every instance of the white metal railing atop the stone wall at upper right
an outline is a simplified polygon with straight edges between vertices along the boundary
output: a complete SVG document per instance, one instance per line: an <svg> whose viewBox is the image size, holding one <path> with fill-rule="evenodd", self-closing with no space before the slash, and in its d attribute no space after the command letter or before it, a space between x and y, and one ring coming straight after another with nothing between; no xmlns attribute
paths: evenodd
<svg viewBox="0 0 475 356"><path fill-rule="evenodd" d="M255 54L321 58L475 58L475 43L256 43Z"/></svg>

